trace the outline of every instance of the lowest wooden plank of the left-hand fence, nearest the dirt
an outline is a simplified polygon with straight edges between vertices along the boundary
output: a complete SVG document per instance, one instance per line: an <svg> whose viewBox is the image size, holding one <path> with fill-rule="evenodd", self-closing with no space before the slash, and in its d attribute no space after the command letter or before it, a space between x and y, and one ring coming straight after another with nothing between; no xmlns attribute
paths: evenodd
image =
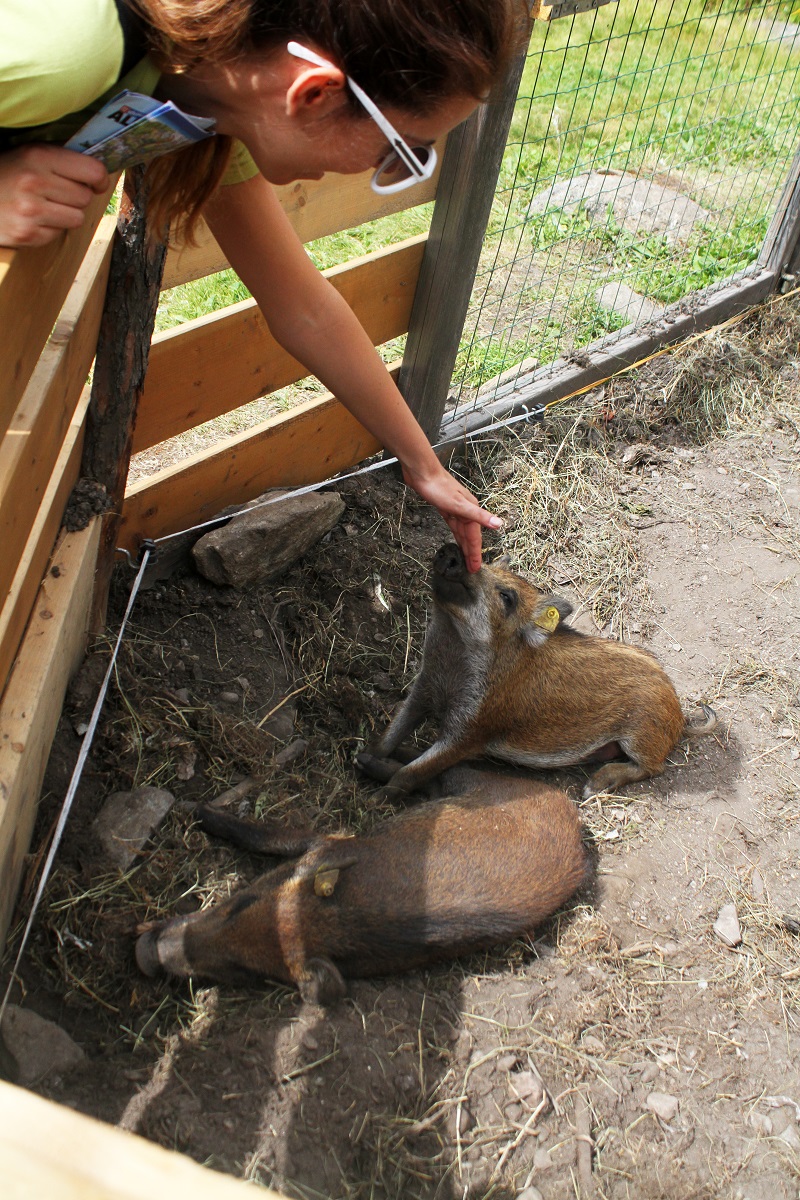
<svg viewBox="0 0 800 1200"><path fill-rule="evenodd" d="M67 683L85 648L100 526L95 517L80 533L61 536L0 702L0 944Z"/></svg>

